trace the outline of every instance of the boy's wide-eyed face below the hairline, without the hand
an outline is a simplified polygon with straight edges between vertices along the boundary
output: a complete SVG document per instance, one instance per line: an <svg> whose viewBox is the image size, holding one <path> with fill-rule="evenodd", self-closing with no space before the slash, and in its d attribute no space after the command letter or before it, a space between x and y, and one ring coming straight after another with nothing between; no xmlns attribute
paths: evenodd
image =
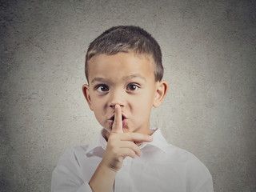
<svg viewBox="0 0 256 192"><path fill-rule="evenodd" d="M159 106L158 86L150 58L134 53L100 54L90 59L88 85L83 92L90 109L108 133L114 106L122 109L122 130L150 134L150 112Z"/></svg>

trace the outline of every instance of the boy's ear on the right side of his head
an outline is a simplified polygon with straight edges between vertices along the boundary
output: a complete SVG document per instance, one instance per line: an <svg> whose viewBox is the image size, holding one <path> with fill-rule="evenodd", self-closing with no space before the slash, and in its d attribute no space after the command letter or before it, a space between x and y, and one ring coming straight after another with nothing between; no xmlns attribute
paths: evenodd
<svg viewBox="0 0 256 192"><path fill-rule="evenodd" d="M161 106L161 103L162 103L163 99L166 97L166 93L169 88L168 82L166 82L166 81L161 81L161 82L157 82L157 83L158 84L156 86L154 102L153 102L154 107Z"/></svg>

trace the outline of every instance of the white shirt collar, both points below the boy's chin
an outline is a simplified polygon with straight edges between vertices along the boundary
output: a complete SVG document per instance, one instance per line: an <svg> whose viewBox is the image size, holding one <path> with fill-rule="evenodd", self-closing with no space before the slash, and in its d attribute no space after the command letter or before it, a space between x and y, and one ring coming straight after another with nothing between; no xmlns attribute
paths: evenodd
<svg viewBox="0 0 256 192"><path fill-rule="evenodd" d="M142 142L142 144L139 146L140 149L144 148L145 146L155 146L159 150L162 150L163 152L166 152L166 146L167 142L166 139L162 136L161 130L151 130L153 132L153 141L152 142ZM100 134L98 134L98 138L90 144L88 149L86 150L86 154L90 153L90 151L94 150L97 147L102 147L103 150L106 150L106 139L103 137L103 135L106 135L106 130L102 129Z"/></svg>

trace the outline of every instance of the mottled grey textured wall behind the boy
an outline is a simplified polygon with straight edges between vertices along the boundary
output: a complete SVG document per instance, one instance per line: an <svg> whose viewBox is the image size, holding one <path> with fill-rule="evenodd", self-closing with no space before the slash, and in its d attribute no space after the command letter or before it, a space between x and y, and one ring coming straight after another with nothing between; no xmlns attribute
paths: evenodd
<svg viewBox="0 0 256 192"><path fill-rule="evenodd" d="M94 140L101 127L81 90L86 47L128 24L162 47L170 91L151 126L201 159L215 191L256 190L255 1L0 5L0 191L49 191L64 151Z"/></svg>

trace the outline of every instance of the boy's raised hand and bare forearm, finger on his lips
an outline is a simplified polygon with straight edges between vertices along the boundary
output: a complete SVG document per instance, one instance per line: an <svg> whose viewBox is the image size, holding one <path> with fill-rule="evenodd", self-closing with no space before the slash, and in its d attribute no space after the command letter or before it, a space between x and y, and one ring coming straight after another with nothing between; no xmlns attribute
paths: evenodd
<svg viewBox="0 0 256 192"><path fill-rule="evenodd" d="M121 169L123 159L127 156L135 158L136 155L142 155L134 142L151 142L153 139L146 134L123 133L122 124L122 110L119 105L116 105L106 152L89 182L94 192L111 191L115 175Z"/></svg>

